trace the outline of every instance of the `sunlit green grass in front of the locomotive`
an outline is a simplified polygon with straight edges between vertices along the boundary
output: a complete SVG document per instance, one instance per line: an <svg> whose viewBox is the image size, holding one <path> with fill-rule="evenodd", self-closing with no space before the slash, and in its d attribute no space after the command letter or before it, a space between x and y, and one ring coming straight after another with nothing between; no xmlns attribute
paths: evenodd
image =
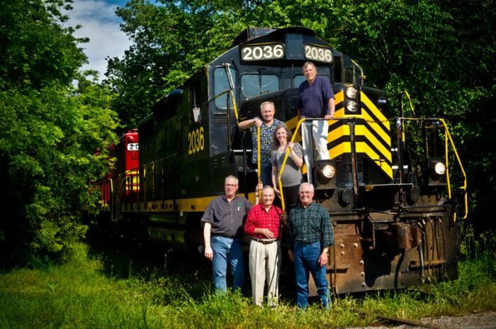
<svg viewBox="0 0 496 329"><path fill-rule="evenodd" d="M377 316L426 316L496 310L496 255L478 252L456 281L404 291L346 296L324 311L253 306L239 294L211 294L198 273L106 276L104 262L75 250L68 264L0 274L0 328L337 328L373 325ZM187 283L186 283L187 282Z"/></svg>

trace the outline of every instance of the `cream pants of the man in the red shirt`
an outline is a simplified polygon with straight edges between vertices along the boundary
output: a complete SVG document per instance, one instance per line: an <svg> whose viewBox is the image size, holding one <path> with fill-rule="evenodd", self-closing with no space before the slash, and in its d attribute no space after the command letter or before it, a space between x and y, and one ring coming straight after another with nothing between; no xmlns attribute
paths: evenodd
<svg viewBox="0 0 496 329"><path fill-rule="evenodd" d="M281 269L281 241L269 244L252 240L249 244L249 275L252 279L253 303L261 306L267 283L267 303L277 306L279 270Z"/></svg>

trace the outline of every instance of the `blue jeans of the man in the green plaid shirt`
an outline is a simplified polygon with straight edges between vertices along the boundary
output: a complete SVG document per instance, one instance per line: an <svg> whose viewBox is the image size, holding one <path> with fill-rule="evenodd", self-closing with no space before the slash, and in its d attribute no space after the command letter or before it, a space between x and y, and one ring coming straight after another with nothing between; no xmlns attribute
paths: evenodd
<svg viewBox="0 0 496 329"><path fill-rule="evenodd" d="M320 242L295 243L293 255L295 257L295 279L296 279L296 303L299 308L308 307L308 279L309 272L312 273L317 294L319 295L322 307L329 307L329 285L327 284L326 267L320 266Z"/></svg>

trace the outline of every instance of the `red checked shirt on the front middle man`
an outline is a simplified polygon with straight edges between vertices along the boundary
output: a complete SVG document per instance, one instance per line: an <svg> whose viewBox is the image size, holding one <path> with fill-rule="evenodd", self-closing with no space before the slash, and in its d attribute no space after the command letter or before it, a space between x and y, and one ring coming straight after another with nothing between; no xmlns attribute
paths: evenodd
<svg viewBox="0 0 496 329"><path fill-rule="evenodd" d="M269 228L274 233L274 239L279 236L279 227L281 226L281 208L272 205L269 212L265 211L264 205L259 203L249 211L247 221L244 223L244 232L252 235L254 238L265 239L262 234L255 234L255 228Z"/></svg>

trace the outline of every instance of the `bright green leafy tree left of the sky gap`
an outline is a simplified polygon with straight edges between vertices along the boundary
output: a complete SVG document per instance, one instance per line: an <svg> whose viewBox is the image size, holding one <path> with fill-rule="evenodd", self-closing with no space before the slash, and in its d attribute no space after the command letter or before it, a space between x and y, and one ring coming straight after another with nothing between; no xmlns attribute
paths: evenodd
<svg viewBox="0 0 496 329"><path fill-rule="evenodd" d="M94 152L115 139L111 91L77 73L84 40L60 25L60 8L71 2L7 1L0 9L2 266L62 259L84 236L78 211L107 162Z"/></svg>

